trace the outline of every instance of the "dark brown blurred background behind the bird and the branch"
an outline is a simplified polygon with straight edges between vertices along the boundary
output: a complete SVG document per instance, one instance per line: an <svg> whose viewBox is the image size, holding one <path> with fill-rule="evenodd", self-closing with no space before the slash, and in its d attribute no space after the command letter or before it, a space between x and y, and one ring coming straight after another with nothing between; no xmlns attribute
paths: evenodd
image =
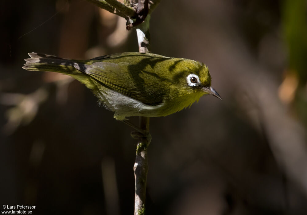
<svg viewBox="0 0 307 215"><path fill-rule="evenodd" d="M306 0L161 1L152 52L204 62L223 100L150 119L146 214L306 213L306 10ZM4 0L0 11L0 203L133 214L131 128L78 81L21 67L29 52L138 51L135 29L84 0Z"/></svg>

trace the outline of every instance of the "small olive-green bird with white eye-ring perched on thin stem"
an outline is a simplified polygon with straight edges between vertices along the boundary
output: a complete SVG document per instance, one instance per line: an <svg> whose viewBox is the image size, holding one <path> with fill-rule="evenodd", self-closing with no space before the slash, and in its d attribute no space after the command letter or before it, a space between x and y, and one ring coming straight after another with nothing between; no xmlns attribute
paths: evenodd
<svg viewBox="0 0 307 215"><path fill-rule="evenodd" d="M60 72L90 88L117 120L128 116L166 116L211 94L209 69L203 63L153 53L120 53L91 60L29 53L26 70Z"/></svg>

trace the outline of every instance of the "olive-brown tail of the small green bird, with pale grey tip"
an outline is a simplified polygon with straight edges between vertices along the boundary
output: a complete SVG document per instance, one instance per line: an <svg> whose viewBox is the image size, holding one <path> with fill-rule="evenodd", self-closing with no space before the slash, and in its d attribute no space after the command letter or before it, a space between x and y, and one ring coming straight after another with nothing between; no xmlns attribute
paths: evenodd
<svg viewBox="0 0 307 215"><path fill-rule="evenodd" d="M75 60L34 52L29 53L29 56L31 58L25 59L26 63L22 67L26 70L60 72L68 75L80 75L82 73L76 68L80 63Z"/></svg>

